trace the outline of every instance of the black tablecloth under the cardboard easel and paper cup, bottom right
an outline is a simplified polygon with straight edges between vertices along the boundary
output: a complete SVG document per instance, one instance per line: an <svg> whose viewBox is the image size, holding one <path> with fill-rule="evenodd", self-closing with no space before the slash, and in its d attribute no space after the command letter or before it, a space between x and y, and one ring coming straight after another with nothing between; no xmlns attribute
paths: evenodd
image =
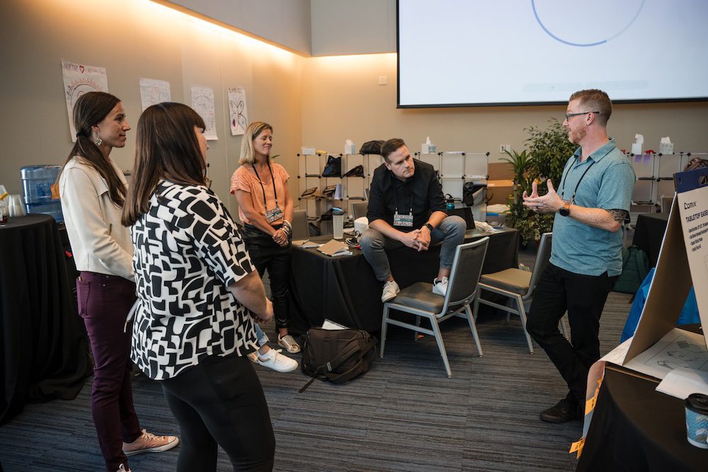
<svg viewBox="0 0 708 472"><path fill-rule="evenodd" d="M607 364L578 471L708 470L708 449L686 439L683 401L657 385Z"/></svg>

